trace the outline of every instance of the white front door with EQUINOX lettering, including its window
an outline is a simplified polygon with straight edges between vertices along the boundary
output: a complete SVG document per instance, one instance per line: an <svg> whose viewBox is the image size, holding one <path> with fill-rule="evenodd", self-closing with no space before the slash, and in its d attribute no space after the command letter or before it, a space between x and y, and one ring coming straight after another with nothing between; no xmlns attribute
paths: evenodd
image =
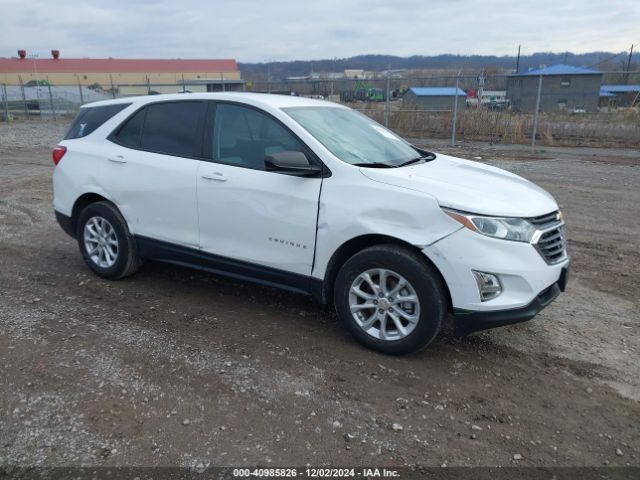
<svg viewBox="0 0 640 480"><path fill-rule="evenodd" d="M197 175L204 261L214 254L310 275L322 178L264 167L265 157L278 151L308 157L310 152L279 121L253 107L220 102L207 116L210 159L200 162Z"/></svg>

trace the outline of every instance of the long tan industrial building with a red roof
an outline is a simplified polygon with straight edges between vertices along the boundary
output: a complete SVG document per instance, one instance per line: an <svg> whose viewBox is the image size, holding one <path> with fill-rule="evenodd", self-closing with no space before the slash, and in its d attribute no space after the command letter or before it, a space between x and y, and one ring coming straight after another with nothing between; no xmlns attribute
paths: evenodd
<svg viewBox="0 0 640 480"><path fill-rule="evenodd" d="M51 58L28 56L24 50L14 58L0 58L0 84L99 85L117 88L122 95L176 92L183 83L191 91L242 90L243 81L235 60ZM145 87L145 85L147 87ZM177 86L180 86L179 88Z"/></svg>

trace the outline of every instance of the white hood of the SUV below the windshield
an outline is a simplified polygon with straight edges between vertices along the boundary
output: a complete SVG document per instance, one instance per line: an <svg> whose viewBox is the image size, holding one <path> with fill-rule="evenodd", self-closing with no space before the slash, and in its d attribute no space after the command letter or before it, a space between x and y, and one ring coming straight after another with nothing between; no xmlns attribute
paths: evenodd
<svg viewBox="0 0 640 480"><path fill-rule="evenodd" d="M435 197L440 206L505 217L536 217L558 209L553 197L518 175L479 162L438 154L401 168L361 168L376 182Z"/></svg>

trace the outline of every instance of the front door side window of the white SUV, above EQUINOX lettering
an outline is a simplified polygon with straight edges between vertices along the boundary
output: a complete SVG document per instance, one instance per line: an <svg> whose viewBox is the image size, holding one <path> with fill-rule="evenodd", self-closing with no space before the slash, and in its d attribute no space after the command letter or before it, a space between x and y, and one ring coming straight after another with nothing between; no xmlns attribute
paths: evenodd
<svg viewBox="0 0 640 480"><path fill-rule="evenodd" d="M301 152L302 145L282 125L252 108L221 103L213 125L213 160L264 170L264 159L276 152Z"/></svg>

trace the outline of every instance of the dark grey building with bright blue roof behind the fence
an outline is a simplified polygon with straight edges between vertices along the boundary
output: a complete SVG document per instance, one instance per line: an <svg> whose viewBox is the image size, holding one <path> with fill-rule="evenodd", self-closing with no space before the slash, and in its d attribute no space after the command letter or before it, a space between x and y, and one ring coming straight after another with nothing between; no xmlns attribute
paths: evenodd
<svg viewBox="0 0 640 480"><path fill-rule="evenodd" d="M534 112L538 84L541 112L595 112L598 110L602 73L572 65L552 65L507 78L507 98L514 112Z"/></svg>

